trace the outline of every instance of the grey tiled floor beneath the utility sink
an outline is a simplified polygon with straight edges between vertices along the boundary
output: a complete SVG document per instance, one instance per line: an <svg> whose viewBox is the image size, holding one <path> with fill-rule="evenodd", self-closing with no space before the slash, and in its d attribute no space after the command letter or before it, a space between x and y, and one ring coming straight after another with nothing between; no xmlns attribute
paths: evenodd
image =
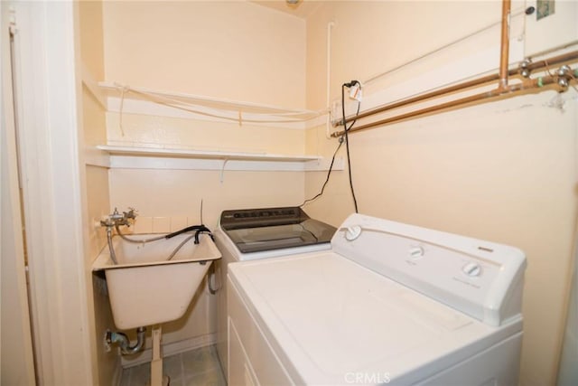
<svg viewBox="0 0 578 386"><path fill-rule="evenodd" d="M164 357L163 373L171 377L170 386L227 386L214 346ZM120 386L144 386L150 376L150 363L129 367Z"/></svg>

